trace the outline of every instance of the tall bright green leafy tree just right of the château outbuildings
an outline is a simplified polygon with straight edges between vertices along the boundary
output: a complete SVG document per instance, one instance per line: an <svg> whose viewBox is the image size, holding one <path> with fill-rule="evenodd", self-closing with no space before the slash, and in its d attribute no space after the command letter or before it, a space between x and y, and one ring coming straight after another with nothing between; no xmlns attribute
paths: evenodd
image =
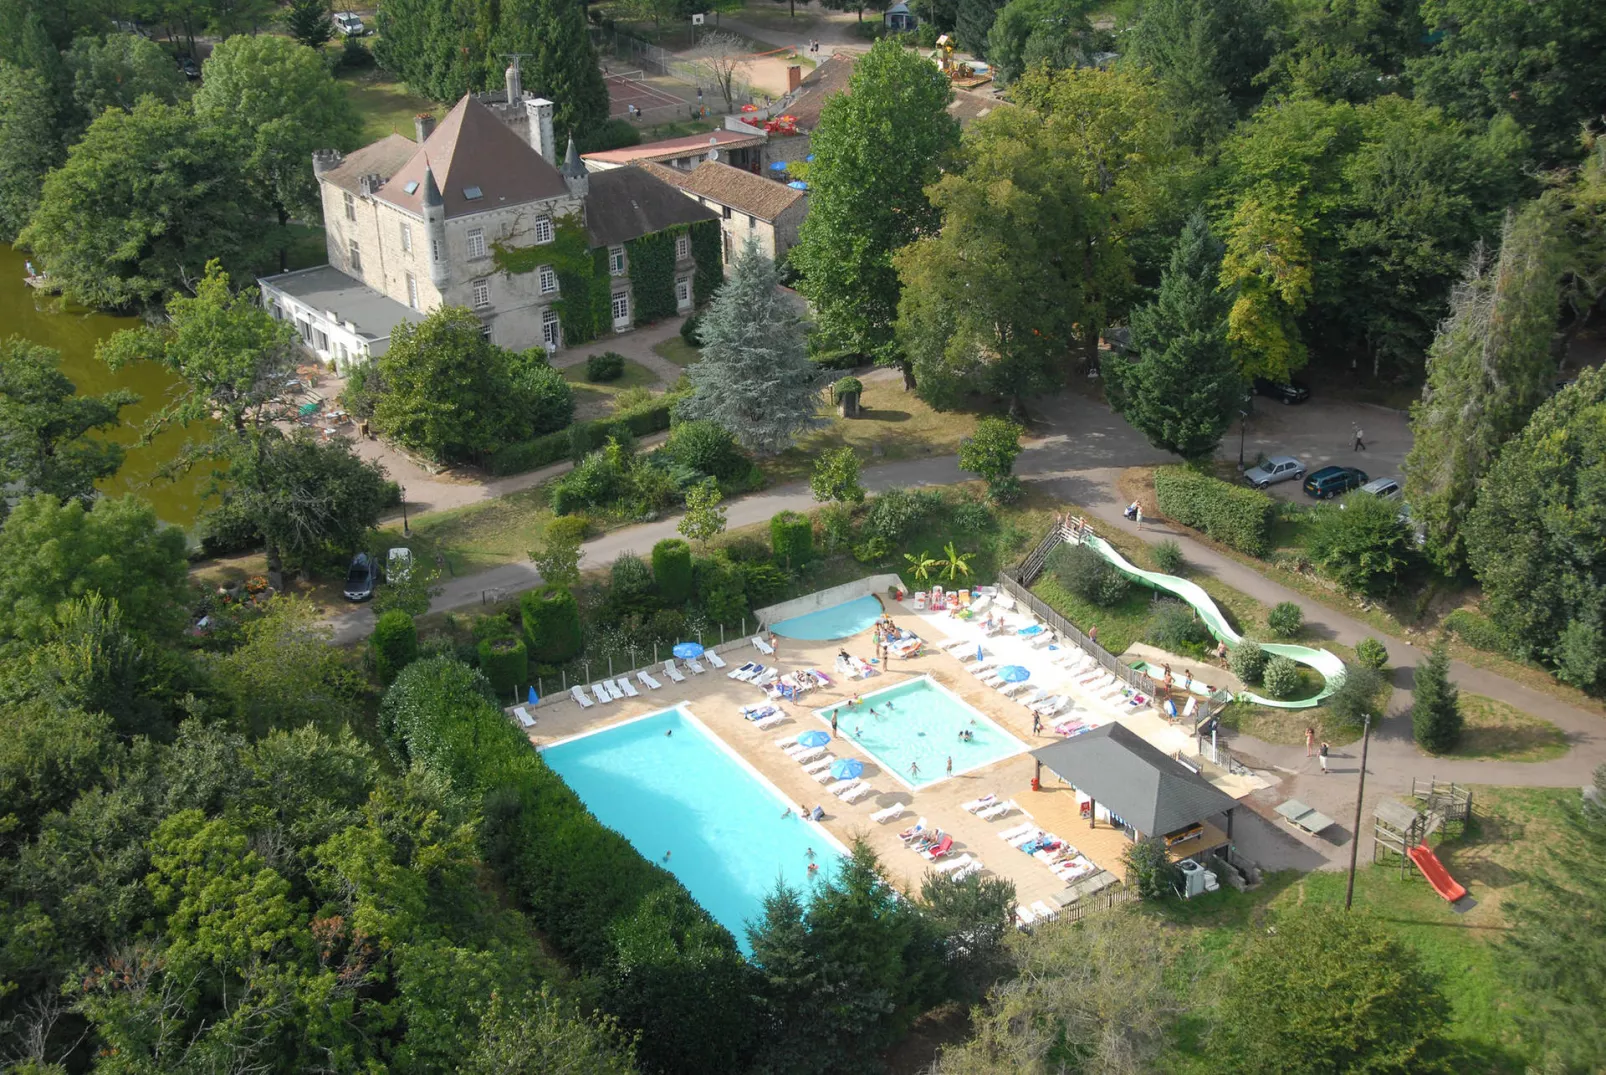
<svg viewBox="0 0 1606 1075"><path fill-rule="evenodd" d="M911 366L893 349L893 251L938 227L925 188L959 145L948 79L896 42L877 42L811 135L809 212L792 251L798 288L834 347ZM695 366L694 366L695 370Z"/></svg>

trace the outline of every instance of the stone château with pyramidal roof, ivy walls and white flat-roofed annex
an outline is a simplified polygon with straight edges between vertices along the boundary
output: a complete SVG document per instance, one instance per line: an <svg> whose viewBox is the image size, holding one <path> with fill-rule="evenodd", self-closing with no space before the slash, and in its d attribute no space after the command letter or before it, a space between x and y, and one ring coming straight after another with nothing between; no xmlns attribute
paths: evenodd
<svg viewBox="0 0 1606 1075"><path fill-rule="evenodd" d="M392 133L349 154L315 153L329 264L260 278L263 304L340 368L382 355L398 325L442 305L472 309L503 347L549 352L565 334L580 342L691 310L723 278L718 257L699 265L689 235L713 227L715 212L641 169L589 174L572 138L560 159L552 108L522 88L516 59L506 92L464 96L438 127L419 116L416 140ZM564 294L560 257L538 255L541 246L565 249L572 225L605 265L581 302ZM631 246L662 233L673 233L673 264L652 273L663 294L636 294ZM499 252L512 252L517 268L504 268ZM589 278L589 260L585 270ZM715 283L699 286L699 272ZM565 328L564 299L588 317L583 329Z"/></svg>

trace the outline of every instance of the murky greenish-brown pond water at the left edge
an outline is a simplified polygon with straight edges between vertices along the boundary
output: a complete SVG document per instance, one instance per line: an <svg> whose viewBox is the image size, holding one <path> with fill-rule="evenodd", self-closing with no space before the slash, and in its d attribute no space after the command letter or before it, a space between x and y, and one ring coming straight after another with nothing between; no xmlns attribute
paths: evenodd
<svg viewBox="0 0 1606 1075"><path fill-rule="evenodd" d="M19 251L0 244L0 333L59 350L61 371L79 392L100 395L112 389L130 389L140 394L138 403L122 408L122 424L101 434L128 445L128 453L122 469L103 480L100 488L109 497L138 493L156 505L162 522L191 529L212 485L210 468L196 468L178 480L165 479L159 471L178 456L186 440L206 439L210 431L198 426L169 429L148 445L135 443L143 423L167 402L178 378L148 362L117 373L108 370L95 358L95 344L119 329L135 328L138 318L109 317L77 307L58 312L59 299L39 294L22 283L24 260Z"/></svg>

